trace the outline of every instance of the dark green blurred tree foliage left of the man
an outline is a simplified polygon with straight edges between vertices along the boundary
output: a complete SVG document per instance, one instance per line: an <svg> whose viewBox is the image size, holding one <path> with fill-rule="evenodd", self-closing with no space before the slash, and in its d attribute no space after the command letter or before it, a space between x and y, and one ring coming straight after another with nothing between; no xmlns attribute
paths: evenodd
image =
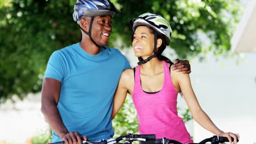
<svg viewBox="0 0 256 144"><path fill-rule="evenodd" d="M3 3L3 2L2 2ZM80 40L74 1L4 1L0 9L0 103L38 92L51 53Z"/></svg>

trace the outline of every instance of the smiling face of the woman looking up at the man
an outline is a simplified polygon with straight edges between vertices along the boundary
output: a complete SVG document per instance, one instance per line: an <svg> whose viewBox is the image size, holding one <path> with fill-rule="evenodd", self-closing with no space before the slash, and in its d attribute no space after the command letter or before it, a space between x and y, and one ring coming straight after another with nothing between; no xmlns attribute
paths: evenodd
<svg viewBox="0 0 256 144"><path fill-rule="evenodd" d="M154 54L154 33L146 26L138 26L133 34L132 48L136 57ZM144 59L144 58L143 58Z"/></svg>

